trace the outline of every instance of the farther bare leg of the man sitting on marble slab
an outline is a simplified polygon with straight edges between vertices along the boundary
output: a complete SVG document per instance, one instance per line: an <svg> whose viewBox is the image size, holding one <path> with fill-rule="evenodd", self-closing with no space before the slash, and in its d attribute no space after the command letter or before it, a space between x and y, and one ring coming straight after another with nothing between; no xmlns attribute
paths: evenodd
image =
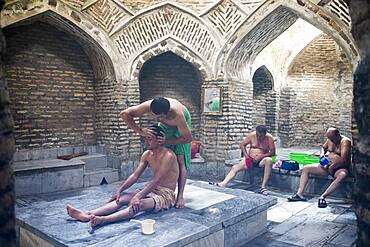
<svg viewBox="0 0 370 247"><path fill-rule="evenodd" d="M91 211L86 211L86 212L78 210L72 207L71 205L67 205L67 213L72 218L75 218L82 222L87 222L87 221L90 221L92 215L107 215L107 214L117 211L122 205L130 202L132 196L133 194L131 193L123 194L120 197L119 204L117 204L116 201L112 201L112 202L108 202L107 204L105 204L104 206L100 208L97 208Z"/></svg>

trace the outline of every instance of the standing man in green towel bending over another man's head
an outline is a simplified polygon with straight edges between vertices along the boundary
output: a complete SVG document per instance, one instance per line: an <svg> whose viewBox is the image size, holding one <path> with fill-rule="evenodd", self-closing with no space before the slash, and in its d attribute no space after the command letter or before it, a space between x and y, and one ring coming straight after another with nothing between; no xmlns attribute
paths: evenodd
<svg viewBox="0 0 370 247"><path fill-rule="evenodd" d="M184 207L184 189L187 170L191 165L191 118L188 109L176 99L155 97L139 105L132 106L120 113L127 126L141 136L153 137L151 129L139 127L134 117L149 114L159 122L165 132L164 145L176 155L180 168L176 208Z"/></svg>

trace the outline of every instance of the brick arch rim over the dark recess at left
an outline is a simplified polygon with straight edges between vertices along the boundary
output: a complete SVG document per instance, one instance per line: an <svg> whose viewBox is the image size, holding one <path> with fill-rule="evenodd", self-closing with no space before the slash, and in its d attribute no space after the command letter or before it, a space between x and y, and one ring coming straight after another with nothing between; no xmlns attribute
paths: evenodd
<svg viewBox="0 0 370 247"><path fill-rule="evenodd" d="M60 1L55 5L42 2L38 8L26 5L27 8L22 11L7 12L7 9L18 7L20 6L11 4L5 6L2 11L2 28L19 23L46 22L75 37L88 54L96 78L120 80L126 74L118 66L120 58L115 54L115 47L109 41L109 37L102 39L101 35L104 35L104 32L69 5Z"/></svg>

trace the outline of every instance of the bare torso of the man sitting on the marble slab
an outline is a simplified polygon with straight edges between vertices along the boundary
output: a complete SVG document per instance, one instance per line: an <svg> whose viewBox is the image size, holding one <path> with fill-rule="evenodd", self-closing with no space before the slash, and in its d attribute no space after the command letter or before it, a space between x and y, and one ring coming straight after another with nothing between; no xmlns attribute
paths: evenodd
<svg viewBox="0 0 370 247"><path fill-rule="evenodd" d="M179 165L175 153L168 148L163 148L159 153L148 150L145 157L153 170L154 177L160 178L158 186L175 190L179 177Z"/></svg>

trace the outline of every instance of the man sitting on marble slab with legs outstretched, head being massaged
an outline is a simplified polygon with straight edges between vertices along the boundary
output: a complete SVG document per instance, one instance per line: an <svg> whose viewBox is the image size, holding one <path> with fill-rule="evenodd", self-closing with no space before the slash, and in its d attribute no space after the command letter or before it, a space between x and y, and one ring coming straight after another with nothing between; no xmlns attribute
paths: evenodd
<svg viewBox="0 0 370 247"><path fill-rule="evenodd" d="M175 205L175 189L179 177L179 165L173 151L158 143L157 138L163 137L163 130L157 125L151 126L154 137L146 136L146 150L140 158L137 169L118 188L110 201L104 206L91 210L81 211L67 205L67 213L72 218L82 222L90 221L91 227L133 218L140 211L158 212ZM159 139L159 138L158 138ZM154 178L144 188L133 193L123 193L134 183L147 166L150 166ZM123 205L128 205L119 211Z"/></svg>

